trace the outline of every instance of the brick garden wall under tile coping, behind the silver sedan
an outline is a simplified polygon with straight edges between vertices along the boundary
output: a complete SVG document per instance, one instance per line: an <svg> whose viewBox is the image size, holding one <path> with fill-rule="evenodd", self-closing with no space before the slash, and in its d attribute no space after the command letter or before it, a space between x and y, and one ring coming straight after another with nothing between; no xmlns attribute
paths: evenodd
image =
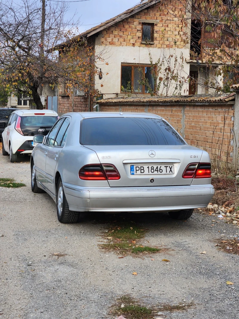
<svg viewBox="0 0 239 319"><path fill-rule="evenodd" d="M101 111L148 112L162 116L190 145L210 154L212 160L232 162L233 104L100 105Z"/></svg>

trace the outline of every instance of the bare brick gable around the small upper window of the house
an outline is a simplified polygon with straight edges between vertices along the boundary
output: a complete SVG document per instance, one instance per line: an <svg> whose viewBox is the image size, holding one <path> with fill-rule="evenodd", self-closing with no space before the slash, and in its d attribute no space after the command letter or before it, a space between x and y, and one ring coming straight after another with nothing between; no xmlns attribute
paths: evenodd
<svg viewBox="0 0 239 319"><path fill-rule="evenodd" d="M157 20L154 24L154 44L147 46L155 48L184 48L181 39L185 28L182 26L182 14L185 14L183 1L163 0L148 9L136 13L118 24L101 32L102 45L145 47L141 43L142 21ZM146 22L146 21L143 21ZM175 46L175 41L177 44Z"/></svg>

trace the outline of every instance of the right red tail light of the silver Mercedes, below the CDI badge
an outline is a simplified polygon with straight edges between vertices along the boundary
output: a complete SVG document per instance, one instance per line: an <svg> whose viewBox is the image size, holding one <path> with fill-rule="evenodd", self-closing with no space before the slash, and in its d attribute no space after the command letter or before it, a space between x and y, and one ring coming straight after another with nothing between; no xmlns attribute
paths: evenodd
<svg viewBox="0 0 239 319"><path fill-rule="evenodd" d="M183 178L211 178L211 164L210 163L191 163L184 173Z"/></svg>

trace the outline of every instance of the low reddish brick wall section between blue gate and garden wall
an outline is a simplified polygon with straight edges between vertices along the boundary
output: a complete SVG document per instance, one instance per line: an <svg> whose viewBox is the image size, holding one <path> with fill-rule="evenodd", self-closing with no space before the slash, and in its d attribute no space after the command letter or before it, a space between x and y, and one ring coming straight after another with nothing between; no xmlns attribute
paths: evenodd
<svg viewBox="0 0 239 319"><path fill-rule="evenodd" d="M88 112L88 97L74 96L74 112ZM58 113L72 112L72 95L59 96Z"/></svg>

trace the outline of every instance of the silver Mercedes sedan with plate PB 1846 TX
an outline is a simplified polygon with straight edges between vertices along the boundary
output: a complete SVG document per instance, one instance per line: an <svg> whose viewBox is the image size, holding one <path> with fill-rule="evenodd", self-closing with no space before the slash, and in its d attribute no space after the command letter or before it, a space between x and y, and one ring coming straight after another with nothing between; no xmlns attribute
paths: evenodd
<svg viewBox="0 0 239 319"><path fill-rule="evenodd" d="M214 195L208 153L154 114L68 113L34 142L32 191L54 199L62 223L83 211L187 219Z"/></svg>

